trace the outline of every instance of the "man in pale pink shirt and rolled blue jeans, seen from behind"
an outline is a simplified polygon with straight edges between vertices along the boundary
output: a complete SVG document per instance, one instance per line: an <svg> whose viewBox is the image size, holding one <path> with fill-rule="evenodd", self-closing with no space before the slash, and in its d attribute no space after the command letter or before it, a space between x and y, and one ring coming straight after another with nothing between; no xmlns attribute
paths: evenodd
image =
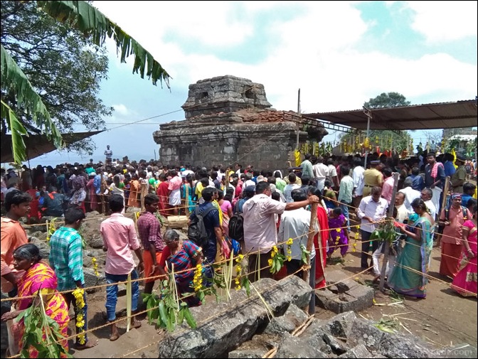
<svg viewBox="0 0 478 359"><path fill-rule="evenodd" d="M139 240L134 228L134 221L122 215L124 202L121 195L112 195L110 198L110 210L112 214L100 225L100 232L103 237L103 250L106 254L105 277L106 288L106 313L107 321L112 323L116 320L116 303L118 295L118 282L127 280L131 273L131 279L138 279L138 272L135 269L133 254L136 253L139 264L139 273L144 271L143 256ZM132 312L137 313L139 300L139 282L132 282ZM131 318L133 328L139 328L141 322ZM115 323L111 324L110 341L119 338L118 329Z"/></svg>

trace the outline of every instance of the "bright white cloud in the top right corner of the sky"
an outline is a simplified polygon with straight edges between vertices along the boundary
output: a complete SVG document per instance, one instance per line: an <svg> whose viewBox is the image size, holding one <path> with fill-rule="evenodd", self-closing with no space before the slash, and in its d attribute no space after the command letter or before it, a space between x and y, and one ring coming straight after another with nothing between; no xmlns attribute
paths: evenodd
<svg viewBox="0 0 478 359"><path fill-rule="evenodd" d="M413 28L430 43L477 36L477 1L408 1L416 12Z"/></svg>

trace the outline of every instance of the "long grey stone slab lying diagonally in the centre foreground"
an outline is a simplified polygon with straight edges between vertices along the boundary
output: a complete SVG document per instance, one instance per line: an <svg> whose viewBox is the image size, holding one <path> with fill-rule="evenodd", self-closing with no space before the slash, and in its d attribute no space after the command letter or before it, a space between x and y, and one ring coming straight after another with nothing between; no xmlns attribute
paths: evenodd
<svg viewBox="0 0 478 359"><path fill-rule="evenodd" d="M261 279L253 283L257 291L276 315L285 313L292 301L297 306L309 303L312 291L302 279L295 276L282 279ZM262 301L251 290L251 296L241 289L231 294L227 303L206 302L191 308L191 314L200 323L198 328L166 335L159 343L159 358L217 358L248 341L268 321ZM216 314L211 316L211 314Z"/></svg>

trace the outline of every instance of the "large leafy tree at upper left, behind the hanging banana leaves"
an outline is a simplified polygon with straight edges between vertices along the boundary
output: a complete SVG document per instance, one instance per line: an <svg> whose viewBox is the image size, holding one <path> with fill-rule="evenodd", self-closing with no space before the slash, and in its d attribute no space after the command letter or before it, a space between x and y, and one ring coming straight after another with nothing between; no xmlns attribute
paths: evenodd
<svg viewBox="0 0 478 359"><path fill-rule="evenodd" d="M98 97L100 81L107 75L106 49L48 16L33 2L1 1L1 24L1 45L41 94L58 130L73 132L77 124L87 131L104 129L103 118L112 113ZM4 88L1 94L4 102L21 114L23 127L38 134L33 119L17 106L16 97ZM5 118L1 121L3 137L7 125ZM91 154L94 146L84 139L68 149Z"/></svg>

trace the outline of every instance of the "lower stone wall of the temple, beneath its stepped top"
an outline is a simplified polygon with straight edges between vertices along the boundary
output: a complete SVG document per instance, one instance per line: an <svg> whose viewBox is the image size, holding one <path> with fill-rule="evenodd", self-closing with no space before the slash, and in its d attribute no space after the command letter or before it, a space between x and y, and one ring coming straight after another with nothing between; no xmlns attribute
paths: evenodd
<svg viewBox="0 0 478 359"><path fill-rule="evenodd" d="M161 131L159 157L163 164L190 163L253 164L255 168L286 168L296 141L296 127L291 122L272 124L235 124ZM307 132L301 132L302 139ZM154 132L154 139L159 132ZM267 141L267 139L273 139ZM279 166L279 167L277 167Z"/></svg>

